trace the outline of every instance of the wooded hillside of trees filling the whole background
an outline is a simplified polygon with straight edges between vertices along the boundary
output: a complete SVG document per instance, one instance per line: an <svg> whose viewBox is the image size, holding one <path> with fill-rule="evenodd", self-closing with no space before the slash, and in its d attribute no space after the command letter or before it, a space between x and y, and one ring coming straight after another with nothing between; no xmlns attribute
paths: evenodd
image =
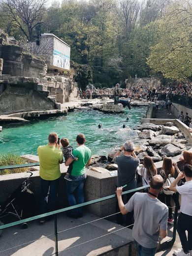
<svg viewBox="0 0 192 256"><path fill-rule="evenodd" d="M82 88L92 78L111 87L135 74L192 76L191 0L63 0L47 8L46 0L1 1L0 28L9 35L25 41L50 32L70 45Z"/></svg>

